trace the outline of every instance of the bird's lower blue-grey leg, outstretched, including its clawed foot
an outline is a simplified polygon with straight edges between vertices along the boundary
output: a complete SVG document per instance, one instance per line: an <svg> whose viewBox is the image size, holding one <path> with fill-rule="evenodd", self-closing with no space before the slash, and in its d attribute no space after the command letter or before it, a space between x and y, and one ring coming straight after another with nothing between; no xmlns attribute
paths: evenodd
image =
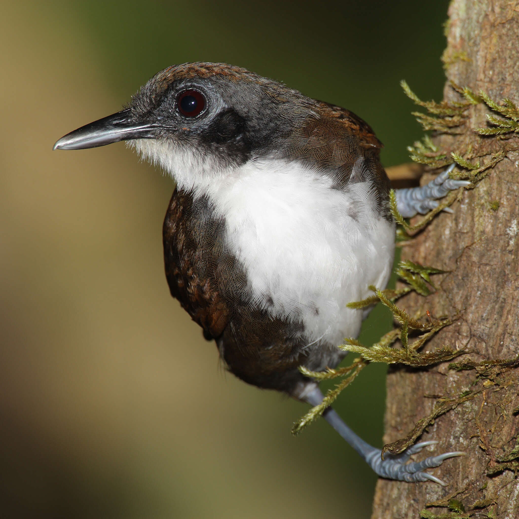
<svg viewBox="0 0 519 519"><path fill-rule="evenodd" d="M314 406L320 404L322 399L323 395L318 387L310 391L304 397L306 402ZM424 470L439 467L447 458L465 455L463 452L455 451L440 454L439 456L431 456L422 461L407 463L411 455L419 453L422 448L428 445L438 443L436 441L429 441L417 443L404 450L402 454L386 454L383 460L380 456L381 450L372 447L360 438L360 436L355 434L331 407L328 407L324 411L323 418L361 455L379 476L387 477L390 480L408 482L434 481L435 483L445 486L446 483L438 479L438 477L424 472Z"/></svg>

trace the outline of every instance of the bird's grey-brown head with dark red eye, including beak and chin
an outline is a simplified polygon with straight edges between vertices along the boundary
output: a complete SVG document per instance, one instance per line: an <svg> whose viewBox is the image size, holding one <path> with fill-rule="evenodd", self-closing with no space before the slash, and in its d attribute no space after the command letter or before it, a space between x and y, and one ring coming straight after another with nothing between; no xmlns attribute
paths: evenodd
<svg viewBox="0 0 519 519"><path fill-rule="evenodd" d="M129 141L179 181L282 154L284 137L317 117L315 103L240 67L186 63L159 72L125 110L65 135L54 149Z"/></svg>

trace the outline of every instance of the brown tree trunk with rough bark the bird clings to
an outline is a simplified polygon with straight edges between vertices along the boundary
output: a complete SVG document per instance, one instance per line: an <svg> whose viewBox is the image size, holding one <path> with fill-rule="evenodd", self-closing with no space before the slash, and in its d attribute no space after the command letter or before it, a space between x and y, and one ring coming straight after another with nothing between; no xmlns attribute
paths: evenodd
<svg viewBox="0 0 519 519"><path fill-rule="evenodd" d="M498 102L510 98L517 104L519 2L453 0L448 15L443 56L447 79L475 92L481 89ZM444 99L463 101L449 82ZM449 345L470 350L460 359L476 362L514 359L519 353L519 153L510 151L518 149L519 139L517 133L497 139L474 132L476 127L490 127L487 113L485 104L474 105L467 112L462 133L436 137L435 143L447 154L460 153L474 162L487 162L499 149L506 157L475 189L463 193L461 203L453 206L455 214L441 213L403 247L403 259L449 273L436 277L440 280L436 293L428 297L410 294L399 302L411 315L427 309L435 317L458 315L424 349ZM445 508L427 508L430 514L445 514L452 511L446 508L448 496L458 491L452 497L473 517L519 517L519 480L510 470L519 469L517 457L510 455L519 432L519 418L514 414L519 406L518 379L519 370L513 368L489 376L481 370L455 371L448 363L428 370L390 368L385 443L402 438L429 415L438 395L458 397L471 390L476 396L437 418L419 440L440 443L415 460L433 452L467 453L430 470L448 486L380 479L372 519L419 517L427 503L447 497L439 503ZM493 471L497 473L488 475ZM451 507L459 504L451 503Z"/></svg>

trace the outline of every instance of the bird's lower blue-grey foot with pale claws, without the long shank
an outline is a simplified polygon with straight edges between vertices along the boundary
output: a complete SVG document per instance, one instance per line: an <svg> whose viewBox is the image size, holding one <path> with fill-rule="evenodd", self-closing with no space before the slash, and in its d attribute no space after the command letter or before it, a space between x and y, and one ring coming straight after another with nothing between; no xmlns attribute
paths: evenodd
<svg viewBox="0 0 519 519"><path fill-rule="evenodd" d="M407 481L410 483L415 481L434 481L439 485L446 486L446 483L441 479L424 472L424 470L432 467L439 467L445 459L453 458L455 456L465 456L465 453L456 450L454 452L440 454L439 456L431 456L422 461L412 461L411 463L407 463L413 454L417 454L422 448L427 447L428 445L435 445L436 443L438 442L430 441L417 443L416 445L404 450L402 454L386 454L385 459L381 459L381 451L376 450L366 457L366 461L379 476L387 477L390 480Z"/></svg>

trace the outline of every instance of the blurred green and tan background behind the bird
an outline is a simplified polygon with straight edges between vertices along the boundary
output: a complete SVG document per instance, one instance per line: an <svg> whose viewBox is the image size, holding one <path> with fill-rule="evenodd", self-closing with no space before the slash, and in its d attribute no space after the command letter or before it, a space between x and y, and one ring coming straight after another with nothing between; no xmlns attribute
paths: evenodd
<svg viewBox="0 0 519 519"><path fill-rule="evenodd" d="M226 374L174 301L171 180L123 143L52 152L158 70L223 61L364 118L386 166L441 98L447 0L4 2L0 18L0 515L368 517L376 478L303 404ZM376 310L363 340L390 326ZM337 402L381 445L385 367Z"/></svg>

